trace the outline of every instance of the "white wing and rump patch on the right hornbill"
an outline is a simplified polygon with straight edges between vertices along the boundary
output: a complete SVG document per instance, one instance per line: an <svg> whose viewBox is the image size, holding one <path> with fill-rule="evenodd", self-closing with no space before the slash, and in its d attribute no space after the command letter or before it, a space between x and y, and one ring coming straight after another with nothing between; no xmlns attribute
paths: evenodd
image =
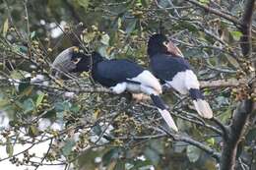
<svg viewBox="0 0 256 170"><path fill-rule="evenodd" d="M166 84L181 94L187 94L190 88L199 88L197 77L191 70L177 73L172 81L166 81Z"/></svg>

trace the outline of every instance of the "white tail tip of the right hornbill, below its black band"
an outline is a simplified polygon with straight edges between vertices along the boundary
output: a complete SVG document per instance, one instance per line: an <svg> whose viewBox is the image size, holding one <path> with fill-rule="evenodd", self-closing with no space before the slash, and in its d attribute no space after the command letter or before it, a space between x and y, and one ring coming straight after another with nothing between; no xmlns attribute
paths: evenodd
<svg viewBox="0 0 256 170"><path fill-rule="evenodd" d="M206 100L197 99L193 100L193 103L200 116L207 119L213 118L213 110L211 109L209 103Z"/></svg>

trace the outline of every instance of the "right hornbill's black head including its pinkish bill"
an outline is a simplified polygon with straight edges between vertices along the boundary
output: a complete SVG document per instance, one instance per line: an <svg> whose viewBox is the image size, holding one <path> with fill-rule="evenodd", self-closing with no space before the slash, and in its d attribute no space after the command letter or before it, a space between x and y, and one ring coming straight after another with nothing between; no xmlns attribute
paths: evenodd
<svg viewBox="0 0 256 170"><path fill-rule="evenodd" d="M153 57L158 53L183 57L183 54L178 47L176 47L165 35L159 33L153 34L148 42L148 54L150 57Z"/></svg>

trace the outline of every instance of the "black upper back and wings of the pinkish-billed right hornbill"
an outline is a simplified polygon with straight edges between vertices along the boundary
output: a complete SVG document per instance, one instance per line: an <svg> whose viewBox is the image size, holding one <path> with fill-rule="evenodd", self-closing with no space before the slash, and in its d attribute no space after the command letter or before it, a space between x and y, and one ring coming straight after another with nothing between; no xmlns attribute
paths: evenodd
<svg viewBox="0 0 256 170"><path fill-rule="evenodd" d="M191 70L185 59L167 54L157 54L151 57L150 65L154 75L160 79L161 83L171 81L179 72Z"/></svg>

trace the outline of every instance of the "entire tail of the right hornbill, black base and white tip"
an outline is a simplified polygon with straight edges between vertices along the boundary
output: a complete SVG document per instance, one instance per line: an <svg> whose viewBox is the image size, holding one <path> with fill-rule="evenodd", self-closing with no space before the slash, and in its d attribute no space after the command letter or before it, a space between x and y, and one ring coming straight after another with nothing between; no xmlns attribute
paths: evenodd
<svg viewBox="0 0 256 170"><path fill-rule="evenodd" d="M204 99L204 95L200 89L190 88L189 93L193 99L193 103L198 114L203 118L211 119L213 117L213 110L211 109L209 103Z"/></svg>

